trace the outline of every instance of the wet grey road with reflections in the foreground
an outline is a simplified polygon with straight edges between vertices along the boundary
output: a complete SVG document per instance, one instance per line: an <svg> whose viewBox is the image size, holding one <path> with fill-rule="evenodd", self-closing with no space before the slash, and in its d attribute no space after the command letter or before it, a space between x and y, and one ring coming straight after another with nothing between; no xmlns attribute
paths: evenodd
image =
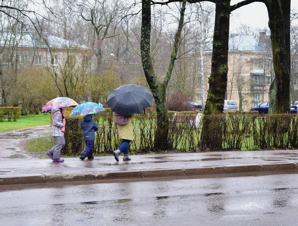
<svg viewBox="0 0 298 226"><path fill-rule="evenodd" d="M298 174L0 186L3 226L295 226Z"/></svg>

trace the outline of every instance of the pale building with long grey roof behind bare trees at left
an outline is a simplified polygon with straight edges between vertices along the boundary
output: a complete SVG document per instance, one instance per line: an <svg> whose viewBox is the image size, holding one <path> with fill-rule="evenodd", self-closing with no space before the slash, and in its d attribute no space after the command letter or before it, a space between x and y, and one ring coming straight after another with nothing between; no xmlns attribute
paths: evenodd
<svg viewBox="0 0 298 226"><path fill-rule="evenodd" d="M23 67L63 68L66 65L91 68L92 51L73 41L43 32L2 31L0 64L15 70Z"/></svg>

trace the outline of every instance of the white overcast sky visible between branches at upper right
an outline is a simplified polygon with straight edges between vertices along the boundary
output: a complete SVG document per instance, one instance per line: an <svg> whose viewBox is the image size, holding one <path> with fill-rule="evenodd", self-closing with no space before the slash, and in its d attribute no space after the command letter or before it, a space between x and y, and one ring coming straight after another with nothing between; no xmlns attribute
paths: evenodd
<svg viewBox="0 0 298 226"><path fill-rule="evenodd" d="M231 5L241 0L231 0ZM298 0L291 0L291 9L298 12ZM298 24L298 20L295 21ZM234 10L231 13L230 32L240 27L241 24L256 28L268 28L267 8L262 2L254 2Z"/></svg>

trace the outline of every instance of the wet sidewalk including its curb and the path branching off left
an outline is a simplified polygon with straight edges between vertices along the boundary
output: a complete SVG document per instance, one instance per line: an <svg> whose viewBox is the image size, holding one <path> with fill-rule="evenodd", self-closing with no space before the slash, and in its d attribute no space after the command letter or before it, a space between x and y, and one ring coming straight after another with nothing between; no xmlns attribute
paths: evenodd
<svg viewBox="0 0 298 226"><path fill-rule="evenodd" d="M47 158L46 153L44 158L24 154L26 152L19 144L41 136L42 132L47 133L48 129L32 128L0 134L0 188L1 185L14 184L245 175L298 170L298 150L130 155L131 161L123 161L123 155L120 155L119 162L114 156L95 156L92 160L72 157L65 158L63 163L54 163ZM9 144L15 148L7 148L11 147ZM15 156L15 153L9 155L9 152L18 152L21 157L9 157Z"/></svg>

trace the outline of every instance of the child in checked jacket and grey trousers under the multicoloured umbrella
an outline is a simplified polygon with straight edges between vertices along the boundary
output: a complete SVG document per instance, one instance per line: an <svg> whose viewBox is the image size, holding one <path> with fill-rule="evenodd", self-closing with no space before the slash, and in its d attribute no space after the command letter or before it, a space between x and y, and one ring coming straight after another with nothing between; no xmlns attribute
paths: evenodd
<svg viewBox="0 0 298 226"><path fill-rule="evenodd" d="M52 136L55 138L55 145L47 152L47 155L53 159L53 162L64 162L63 158L60 158L61 149L65 145L64 131L65 131L65 108L56 108L52 110Z"/></svg>

